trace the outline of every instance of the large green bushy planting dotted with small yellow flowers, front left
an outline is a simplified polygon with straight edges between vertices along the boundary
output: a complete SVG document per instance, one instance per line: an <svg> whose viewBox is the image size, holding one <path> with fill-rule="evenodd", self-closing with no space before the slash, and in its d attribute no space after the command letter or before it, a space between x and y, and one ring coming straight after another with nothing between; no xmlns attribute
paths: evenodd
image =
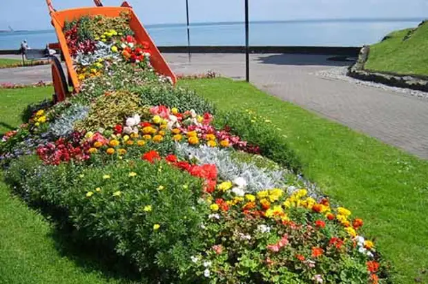
<svg viewBox="0 0 428 284"><path fill-rule="evenodd" d="M203 245L202 180L165 162L42 166L26 157L12 164L6 181L30 202L64 211L77 236L110 244L152 283L176 281Z"/></svg>

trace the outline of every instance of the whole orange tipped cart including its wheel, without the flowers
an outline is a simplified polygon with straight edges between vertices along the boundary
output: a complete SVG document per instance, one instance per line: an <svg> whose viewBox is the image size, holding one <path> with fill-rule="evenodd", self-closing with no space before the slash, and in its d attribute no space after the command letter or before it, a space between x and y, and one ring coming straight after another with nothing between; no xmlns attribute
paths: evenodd
<svg viewBox="0 0 428 284"><path fill-rule="evenodd" d="M48 4L48 9L50 13L50 17L52 19L52 26L55 28L55 32L57 32L57 37L59 43L57 44L49 44L50 48L58 48L61 50L61 54L64 56L64 60L66 61L66 67L68 72L68 85L72 86L75 93L79 93L80 82L77 78L77 73L73 68L72 58L70 52L68 50L66 37L64 36L64 23L66 21L72 21L74 19L79 19L80 17L86 15L103 15L105 17L119 17L122 12L128 12L130 14L130 28L135 32L135 39L137 43L142 44L143 42L148 43L148 50L150 50L150 64L155 68L156 72L171 77L173 83L177 81L177 77L175 77L173 71L166 63L164 57L159 52L153 40L150 38L146 29L139 21L137 15L133 8L128 4L128 2L124 1L120 7L104 7L101 3L101 0L94 0L95 7L88 8L74 8L68 10L57 11L52 6L51 0L46 0ZM61 102L66 99L68 92L68 85L66 82L66 76L64 75L64 71L61 67L59 60L54 57L52 59L52 80L55 88L56 101Z"/></svg>

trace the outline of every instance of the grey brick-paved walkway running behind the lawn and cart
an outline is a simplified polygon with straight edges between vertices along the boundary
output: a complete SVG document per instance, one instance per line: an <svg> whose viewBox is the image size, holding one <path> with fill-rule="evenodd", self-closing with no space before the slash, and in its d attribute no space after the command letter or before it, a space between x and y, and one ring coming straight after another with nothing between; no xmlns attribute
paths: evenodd
<svg viewBox="0 0 428 284"><path fill-rule="evenodd" d="M244 55L166 54L175 73L244 79ZM322 55L251 55L251 82L283 100L320 113L421 158L428 158L428 100L315 75L346 65ZM48 66L0 69L1 82L50 81ZM329 133L326 133L329 135Z"/></svg>

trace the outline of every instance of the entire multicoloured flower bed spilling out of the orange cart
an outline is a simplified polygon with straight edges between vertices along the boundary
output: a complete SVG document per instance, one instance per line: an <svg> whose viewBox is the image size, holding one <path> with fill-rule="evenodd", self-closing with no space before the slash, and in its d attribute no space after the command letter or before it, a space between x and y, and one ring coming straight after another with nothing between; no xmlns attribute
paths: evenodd
<svg viewBox="0 0 428 284"><path fill-rule="evenodd" d="M171 86L126 15L65 29L81 93L30 106L0 140L25 200L150 283L388 281L363 220L298 174L266 117L218 113Z"/></svg>

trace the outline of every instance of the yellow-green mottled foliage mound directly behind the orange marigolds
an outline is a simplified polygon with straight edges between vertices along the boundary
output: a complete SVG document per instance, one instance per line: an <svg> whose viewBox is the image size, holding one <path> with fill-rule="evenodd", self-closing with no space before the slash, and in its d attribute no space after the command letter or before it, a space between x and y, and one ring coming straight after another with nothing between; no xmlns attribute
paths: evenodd
<svg viewBox="0 0 428 284"><path fill-rule="evenodd" d="M97 97L90 105L88 117L75 124L75 128L86 131L111 129L116 124L123 124L127 117L148 113L140 104L138 95L129 92L112 92Z"/></svg>

